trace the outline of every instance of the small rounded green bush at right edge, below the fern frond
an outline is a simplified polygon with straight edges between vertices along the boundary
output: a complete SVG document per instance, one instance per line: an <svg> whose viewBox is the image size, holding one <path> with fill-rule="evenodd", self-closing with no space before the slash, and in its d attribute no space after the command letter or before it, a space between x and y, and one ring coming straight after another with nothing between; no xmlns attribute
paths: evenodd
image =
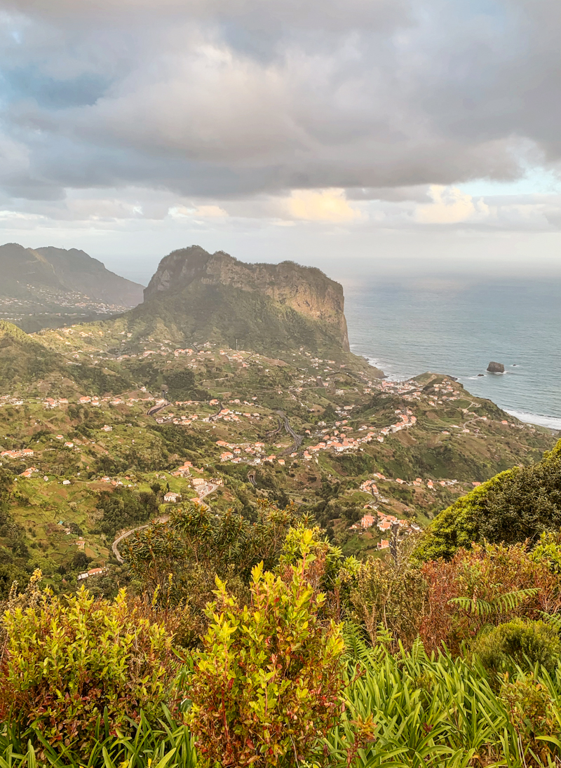
<svg viewBox="0 0 561 768"><path fill-rule="evenodd" d="M490 672L510 670L513 664L533 667L536 661L551 671L559 660L561 643L556 630L549 624L516 618L483 630L472 650Z"/></svg>

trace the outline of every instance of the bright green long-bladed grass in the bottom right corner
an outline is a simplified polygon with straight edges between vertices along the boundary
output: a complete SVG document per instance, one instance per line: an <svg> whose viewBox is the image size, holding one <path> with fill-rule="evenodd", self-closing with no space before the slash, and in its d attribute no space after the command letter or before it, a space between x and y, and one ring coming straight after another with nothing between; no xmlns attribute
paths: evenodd
<svg viewBox="0 0 561 768"><path fill-rule="evenodd" d="M347 707L326 739L335 763L344 764L355 723L371 717L375 739L355 762L364 768L561 765L561 667L517 668L497 686L477 662L429 657L419 641L394 656L355 630L347 642Z"/></svg>

